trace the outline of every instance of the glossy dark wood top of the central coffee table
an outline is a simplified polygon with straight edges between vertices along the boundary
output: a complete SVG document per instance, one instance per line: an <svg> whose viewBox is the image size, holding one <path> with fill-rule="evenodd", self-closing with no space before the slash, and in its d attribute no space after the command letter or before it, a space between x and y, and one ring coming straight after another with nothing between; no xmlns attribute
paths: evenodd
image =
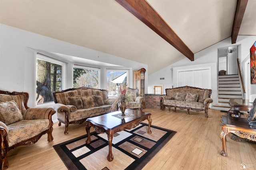
<svg viewBox="0 0 256 170"><path fill-rule="evenodd" d="M111 130L120 125L129 124L132 121L140 120L144 117L146 119L148 116L151 115L151 113L143 112L140 110L126 109L125 113L133 114L133 116L125 117L123 119L112 116L112 115L116 115L118 113L121 113L121 111L114 111L111 113L106 113L104 115L90 117L90 118L86 119L86 121L89 121L94 125L104 127L104 129L106 129L106 130Z"/></svg>

